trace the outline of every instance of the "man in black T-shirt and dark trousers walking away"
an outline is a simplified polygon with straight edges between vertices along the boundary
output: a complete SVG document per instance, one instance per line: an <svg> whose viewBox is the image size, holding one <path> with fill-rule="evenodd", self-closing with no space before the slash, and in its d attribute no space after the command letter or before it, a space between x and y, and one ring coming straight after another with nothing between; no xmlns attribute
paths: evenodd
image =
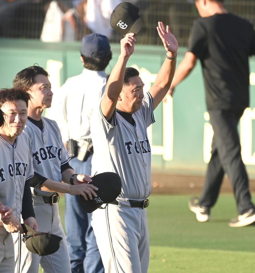
<svg viewBox="0 0 255 273"><path fill-rule="evenodd" d="M229 226L238 227L255 222L237 131L239 119L249 106L248 57L255 54L255 32L248 21L228 13L223 1L195 1L202 18L193 24L188 52L175 72L169 94L172 95L175 86L200 59L214 135L201 197L192 198L189 208L196 213L199 222L208 221L210 208L217 200L223 176L227 173L239 213Z"/></svg>

